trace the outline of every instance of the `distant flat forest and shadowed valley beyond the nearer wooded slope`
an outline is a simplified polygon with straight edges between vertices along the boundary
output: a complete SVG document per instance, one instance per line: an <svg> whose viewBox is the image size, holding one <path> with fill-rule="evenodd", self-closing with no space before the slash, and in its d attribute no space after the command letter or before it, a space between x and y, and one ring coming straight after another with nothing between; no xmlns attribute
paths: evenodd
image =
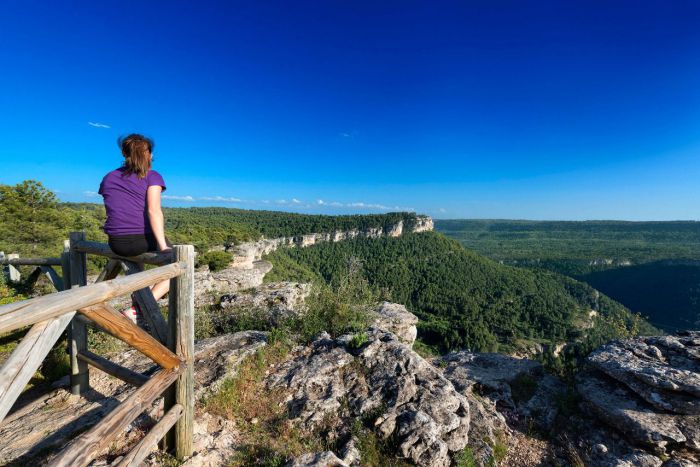
<svg viewBox="0 0 700 467"><path fill-rule="evenodd" d="M466 248L584 281L667 331L700 329L700 222L438 220Z"/></svg>

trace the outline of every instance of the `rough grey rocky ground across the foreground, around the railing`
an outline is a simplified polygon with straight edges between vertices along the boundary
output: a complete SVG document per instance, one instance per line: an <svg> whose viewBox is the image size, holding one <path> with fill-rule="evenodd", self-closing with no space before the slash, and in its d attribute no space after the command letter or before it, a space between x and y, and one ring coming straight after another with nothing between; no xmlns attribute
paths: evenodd
<svg viewBox="0 0 700 467"><path fill-rule="evenodd" d="M271 326L303 313L309 286L261 285L270 266L256 254L245 267L197 272L198 303L224 312L263 310ZM391 450L392 465L700 463L700 333L611 342L588 357L571 387L528 359L471 352L425 359L412 348L417 321L385 302L366 330L321 334L261 369L255 389L261 399L275 394L270 400L285 429L322 438L287 465L381 465L367 450L368 432ZM195 454L183 465L227 465L262 425L256 417L222 415L207 401L269 340L268 333L244 331L196 343ZM133 350L111 358L137 371L155 369ZM66 385L23 400L0 425L0 465L46 463L133 391L99 370L91 371L84 398L70 396ZM117 463L161 413L157 401L94 465ZM165 463L155 452L147 462Z"/></svg>

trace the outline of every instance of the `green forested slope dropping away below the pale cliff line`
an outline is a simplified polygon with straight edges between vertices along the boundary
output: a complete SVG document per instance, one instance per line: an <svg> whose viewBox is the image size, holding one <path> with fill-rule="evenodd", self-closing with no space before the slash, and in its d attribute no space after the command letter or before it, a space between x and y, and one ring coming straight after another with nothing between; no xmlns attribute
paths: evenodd
<svg viewBox="0 0 700 467"><path fill-rule="evenodd" d="M508 350L523 340L593 345L655 331L586 284L498 264L434 232L283 249L267 258L276 268L270 279L317 274L330 283L350 258L359 259L369 282L416 313L421 339L441 350ZM591 318L591 310L598 317Z"/></svg>

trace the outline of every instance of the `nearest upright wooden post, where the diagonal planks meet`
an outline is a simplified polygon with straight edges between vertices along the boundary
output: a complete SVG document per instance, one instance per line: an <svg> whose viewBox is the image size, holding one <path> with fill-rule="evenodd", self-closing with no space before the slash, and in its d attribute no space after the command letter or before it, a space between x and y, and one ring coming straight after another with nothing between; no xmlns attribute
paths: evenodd
<svg viewBox="0 0 700 467"><path fill-rule="evenodd" d="M174 445L175 457L183 460L192 455L194 434L194 247L175 245L173 261L184 261L187 269L170 280L168 347L183 358L185 368L166 396L166 412L175 404L180 404L183 412L166 437L165 446Z"/></svg>

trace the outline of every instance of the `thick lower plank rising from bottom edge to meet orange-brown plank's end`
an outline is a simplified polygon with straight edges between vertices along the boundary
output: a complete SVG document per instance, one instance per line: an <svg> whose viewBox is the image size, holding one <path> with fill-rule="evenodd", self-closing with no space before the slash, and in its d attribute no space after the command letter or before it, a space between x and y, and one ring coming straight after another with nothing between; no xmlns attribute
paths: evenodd
<svg viewBox="0 0 700 467"><path fill-rule="evenodd" d="M124 402L114 408L90 431L73 441L58 456L51 460L50 466L73 467L88 465L116 438L126 426L133 422L153 403L160 394L177 378L174 369L163 369L156 373L146 384L138 388Z"/></svg>

